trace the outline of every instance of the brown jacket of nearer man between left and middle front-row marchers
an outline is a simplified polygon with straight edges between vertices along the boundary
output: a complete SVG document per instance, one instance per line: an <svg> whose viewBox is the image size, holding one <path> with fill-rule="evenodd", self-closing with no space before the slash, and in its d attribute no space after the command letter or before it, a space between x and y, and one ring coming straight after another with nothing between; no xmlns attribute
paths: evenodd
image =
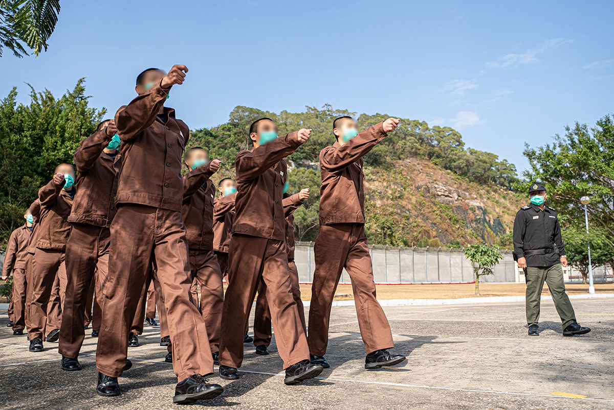
<svg viewBox="0 0 614 410"><path fill-rule="evenodd" d="M216 187L211 182L209 164L191 170L184 177L185 237L190 249L213 249L213 199Z"/></svg>

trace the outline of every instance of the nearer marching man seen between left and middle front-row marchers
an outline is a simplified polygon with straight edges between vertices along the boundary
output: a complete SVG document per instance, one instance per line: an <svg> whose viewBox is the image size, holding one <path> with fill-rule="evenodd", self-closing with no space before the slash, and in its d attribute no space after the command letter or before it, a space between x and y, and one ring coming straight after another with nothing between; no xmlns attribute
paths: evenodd
<svg viewBox="0 0 614 410"><path fill-rule="evenodd" d="M220 160L209 162L203 148L190 148L185 154L190 172L184 176L184 201L181 214L185 223L192 277L200 283L200 310L207 324L209 347L217 364L220 348L220 325L224 291L222 271L213 252L213 200L216 186L211 175L220 167ZM198 306L198 300L194 298Z"/></svg>

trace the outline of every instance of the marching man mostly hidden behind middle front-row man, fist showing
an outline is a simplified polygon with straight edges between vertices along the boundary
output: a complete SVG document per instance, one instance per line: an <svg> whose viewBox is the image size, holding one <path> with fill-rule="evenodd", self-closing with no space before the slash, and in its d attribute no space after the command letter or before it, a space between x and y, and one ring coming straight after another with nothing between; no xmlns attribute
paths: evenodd
<svg viewBox="0 0 614 410"><path fill-rule="evenodd" d="M290 269L290 279L292 280L292 297L297 303L298 316L301 319L303 330L307 334L305 327L305 311L301 300L301 288L298 284L297 264L294 263L294 211L303 205L309 197L309 188L301 189L293 195L284 194L284 214L286 215L286 245L288 247L288 268ZM271 309L266 300L266 284L260 281L258 286L258 297L256 298L256 309L254 311L254 346L256 354L268 354L268 346L271 344L273 333L271 332Z"/></svg>

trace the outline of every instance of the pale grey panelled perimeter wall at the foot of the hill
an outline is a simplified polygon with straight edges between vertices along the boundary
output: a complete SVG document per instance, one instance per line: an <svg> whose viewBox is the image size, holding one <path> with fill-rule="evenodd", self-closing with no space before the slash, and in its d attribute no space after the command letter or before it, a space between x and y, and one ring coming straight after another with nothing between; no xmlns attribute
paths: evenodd
<svg viewBox="0 0 614 410"><path fill-rule="evenodd" d="M301 283L311 283L316 268L313 242L297 242L295 263ZM459 248L403 248L373 245L369 247L373 261L375 283L468 283L475 281L473 266ZM503 259L495 265L494 275L481 276L483 282L524 282L511 251L501 252ZM572 282L581 281L576 270L569 273ZM594 270L594 281L611 281L612 270L599 267ZM350 283L343 270L341 283Z"/></svg>

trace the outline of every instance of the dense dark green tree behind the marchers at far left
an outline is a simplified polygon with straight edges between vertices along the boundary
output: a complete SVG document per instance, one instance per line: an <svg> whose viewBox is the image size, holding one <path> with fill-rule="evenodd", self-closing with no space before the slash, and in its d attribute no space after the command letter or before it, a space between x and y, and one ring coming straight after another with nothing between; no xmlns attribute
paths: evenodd
<svg viewBox="0 0 614 410"><path fill-rule="evenodd" d="M0 102L0 246L23 223L23 213L60 162L72 163L80 140L95 131L106 110L88 106L84 80L60 98L30 87L30 103L17 104L17 89Z"/></svg>

